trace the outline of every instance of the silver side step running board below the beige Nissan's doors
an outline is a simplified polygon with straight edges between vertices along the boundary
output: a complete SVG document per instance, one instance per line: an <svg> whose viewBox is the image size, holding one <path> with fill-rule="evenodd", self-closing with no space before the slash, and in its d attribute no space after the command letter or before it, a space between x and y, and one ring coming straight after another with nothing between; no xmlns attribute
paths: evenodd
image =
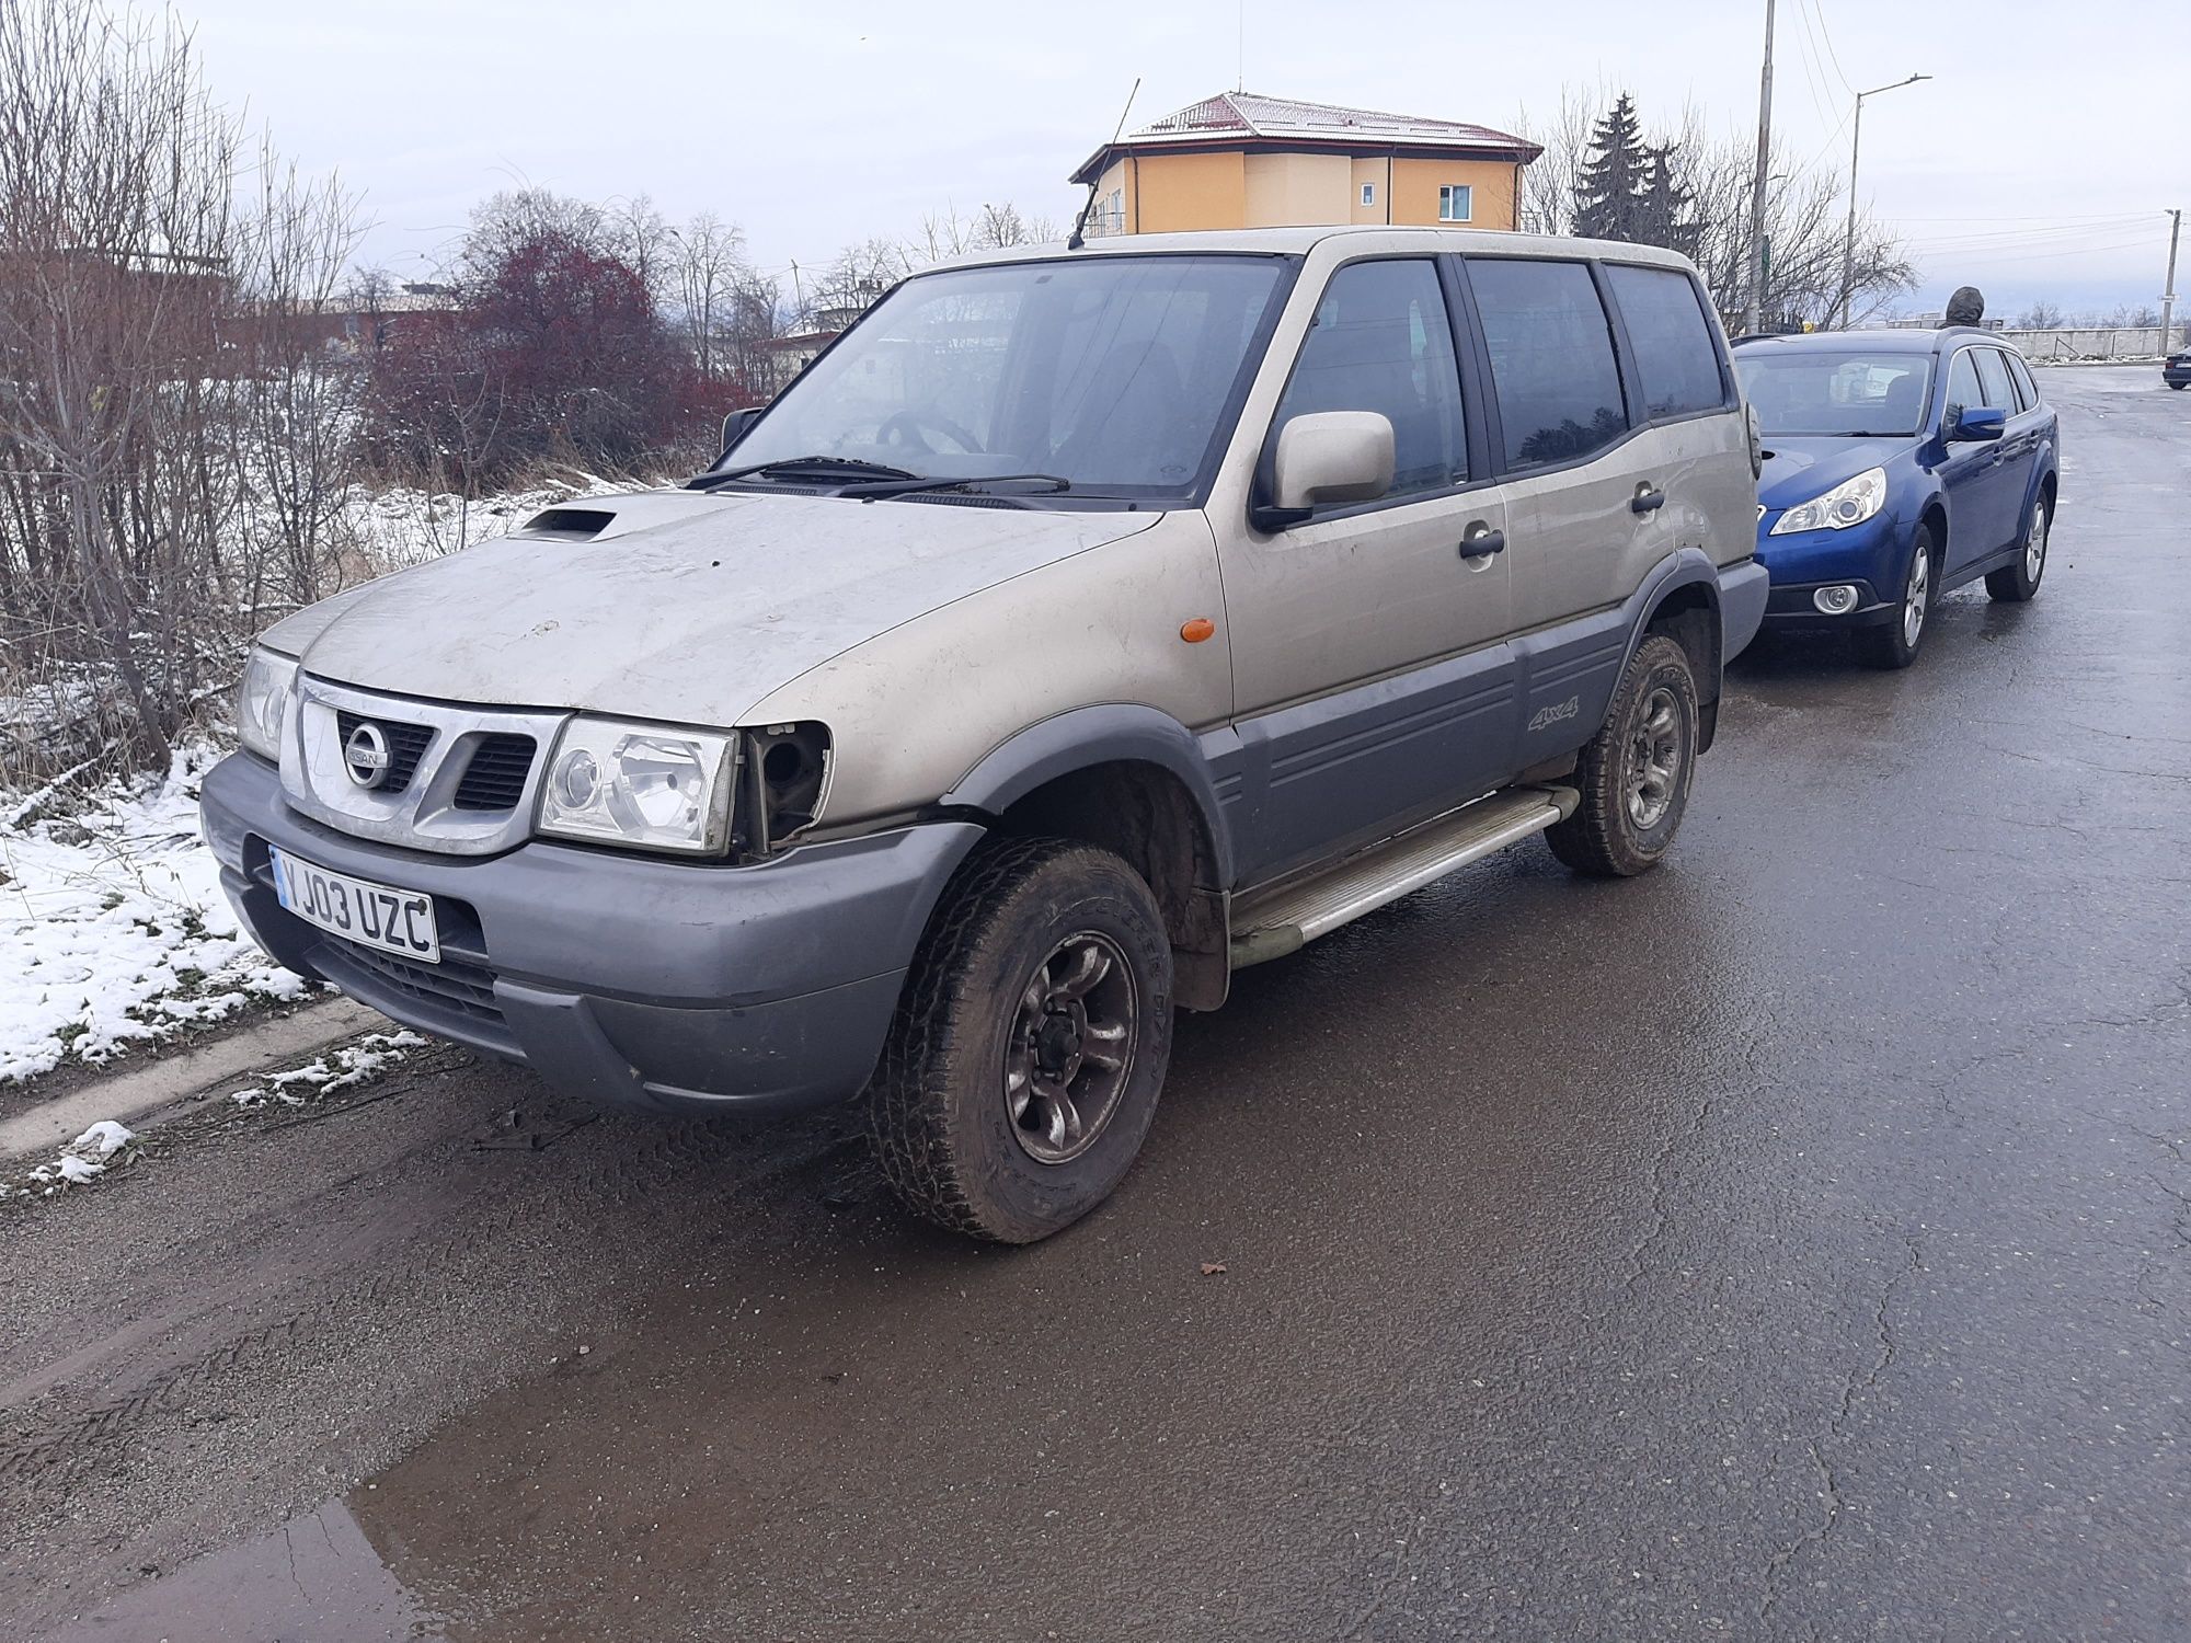
<svg viewBox="0 0 2191 1643"><path fill-rule="evenodd" d="M1231 909L1231 966L1244 970L1286 957L1455 868L1542 832L1573 815L1580 802L1571 786L1514 786L1446 811L1310 878L1251 892Z"/></svg>

